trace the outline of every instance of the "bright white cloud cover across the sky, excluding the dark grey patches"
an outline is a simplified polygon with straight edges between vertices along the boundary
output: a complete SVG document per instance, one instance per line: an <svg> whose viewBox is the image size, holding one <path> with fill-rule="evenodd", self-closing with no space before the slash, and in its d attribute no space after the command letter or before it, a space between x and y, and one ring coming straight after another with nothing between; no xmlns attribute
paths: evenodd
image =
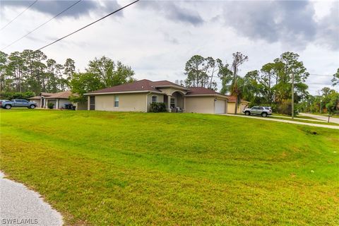
<svg viewBox="0 0 339 226"><path fill-rule="evenodd" d="M113 2L115 3L115 1ZM129 2L118 1L118 4L123 6ZM109 1L105 2L105 5L107 4L109 4ZM262 28L258 26L258 24L261 24L260 21L265 20L265 16L274 18L274 23L280 24L279 20L285 20L286 15L284 13L279 18L275 18L271 13L263 14L263 18L259 17L260 19L255 20L258 23L255 23L258 30L241 31L236 25L225 23L225 14L223 13L225 13L226 5L232 5L230 2L174 1L173 3L171 1L170 4L167 2L165 5L162 5L161 2L157 3L156 7L149 6L152 2L148 2L148 6L141 4L144 4L143 1L126 8L123 16L106 18L61 42L43 49L43 52L49 58L56 59L61 64L64 63L66 58L72 58L81 71L89 60L105 55L130 65L136 71L136 78L138 79L167 79L169 81L185 78L184 65L194 54L220 58L222 61L230 63L233 52L243 52L249 56L249 61L241 68L242 71L240 72L243 74L246 71L260 69L263 64L273 61L287 51L297 52L310 73L331 75L339 65L338 50L333 49L333 45L323 45L325 41L322 38L330 40L331 35L329 37L312 35L313 33L308 32L307 29L317 30L319 27L314 28L308 25L306 20L297 23L296 27L293 28L289 27L290 23L293 22L289 20L289 24L281 25L282 30L277 33L278 36L273 34L271 38L255 33L256 31L266 32L265 26ZM255 4L258 4L258 6ZM303 16L314 18L314 15L318 15L318 18L314 19L314 23L318 24L323 21L324 25L320 28L328 28L327 18L331 11L327 11L326 14L324 9L319 11L316 8L314 10L309 8L316 7L317 4L304 5L307 5L307 8L303 10L303 13L311 13L311 17L302 13ZM168 8L165 6L168 6ZM251 6L253 6L255 12L270 8L264 7L263 4L256 1ZM263 6L263 8L259 6ZM180 12L174 15L165 13L165 9L173 10L173 8L179 9ZM278 12L277 8L273 9L275 13ZM234 13L226 16L226 18L233 18L237 14L237 7L234 7L233 10ZM6 7L6 9L1 10L0 26L4 25L6 21L8 22L8 18L13 18L19 12L20 8L13 7ZM243 19L237 20L237 23L244 23L246 26L251 24L253 21L249 21L249 18L251 18L249 12L251 12L249 9L239 11ZM283 12L286 12L286 9ZM297 13L297 10L295 9L294 12ZM321 13L319 14L319 12ZM104 16L106 13L94 8L77 17L66 16L52 20L51 23L32 33L28 38L20 40L20 42L6 49L5 52L42 47L44 44L57 40L57 38ZM183 13L188 13L189 17L183 16ZM258 13L254 14L257 15ZM42 13L42 11L26 11L8 28L0 31L0 47L4 47L16 38L25 35L26 32L50 17L50 14ZM2 18L6 18L6 20L2 20ZM299 17L294 18L297 20ZM333 22L338 24L339 21L335 20L337 18L334 17ZM309 27L303 28L303 26ZM297 30L299 28L302 28L300 32ZM275 29L274 24L270 25L268 32L275 32ZM290 32L297 39L296 42L292 42L290 37L285 37L290 35ZM300 45L302 45L302 48L299 47ZM331 81L331 77L310 76L307 83L309 83L310 92L316 94L316 90L329 84L328 81Z"/></svg>

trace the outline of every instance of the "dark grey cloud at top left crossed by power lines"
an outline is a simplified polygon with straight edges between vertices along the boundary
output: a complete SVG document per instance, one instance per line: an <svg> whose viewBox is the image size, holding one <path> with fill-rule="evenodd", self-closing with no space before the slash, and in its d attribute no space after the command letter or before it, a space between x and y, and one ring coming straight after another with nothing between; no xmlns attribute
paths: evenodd
<svg viewBox="0 0 339 226"><path fill-rule="evenodd" d="M1 7L28 7L32 4L33 1L1 1ZM76 0L73 1L37 1L30 10L40 11L42 13L49 14L51 16L55 16L64 9L76 3ZM114 9L119 8L119 4L117 1L94 1L94 0L83 0L70 8L68 11L62 13L61 16L69 16L73 18L78 18L79 16L88 15L91 11L113 11Z"/></svg>

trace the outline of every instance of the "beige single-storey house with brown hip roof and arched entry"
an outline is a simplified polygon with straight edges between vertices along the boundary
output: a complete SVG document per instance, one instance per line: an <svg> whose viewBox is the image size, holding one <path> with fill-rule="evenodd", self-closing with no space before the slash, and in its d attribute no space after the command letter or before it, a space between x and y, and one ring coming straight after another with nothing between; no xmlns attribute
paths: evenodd
<svg viewBox="0 0 339 226"><path fill-rule="evenodd" d="M148 112L150 103L164 102L168 111L224 114L227 96L207 88L185 88L169 81L143 79L96 90L88 95L88 109L113 112Z"/></svg>

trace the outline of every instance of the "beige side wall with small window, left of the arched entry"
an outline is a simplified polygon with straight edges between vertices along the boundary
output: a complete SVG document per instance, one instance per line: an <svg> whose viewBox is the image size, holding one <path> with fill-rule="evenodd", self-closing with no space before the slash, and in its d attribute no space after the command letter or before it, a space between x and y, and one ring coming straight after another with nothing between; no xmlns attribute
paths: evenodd
<svg viewBox="0 0 339 226"><path fill-rule="evenodd" d="M95 95L95 110L110 112L146 112L146 93L119 94L119 107L114 107L114 94Z"/></svg>

